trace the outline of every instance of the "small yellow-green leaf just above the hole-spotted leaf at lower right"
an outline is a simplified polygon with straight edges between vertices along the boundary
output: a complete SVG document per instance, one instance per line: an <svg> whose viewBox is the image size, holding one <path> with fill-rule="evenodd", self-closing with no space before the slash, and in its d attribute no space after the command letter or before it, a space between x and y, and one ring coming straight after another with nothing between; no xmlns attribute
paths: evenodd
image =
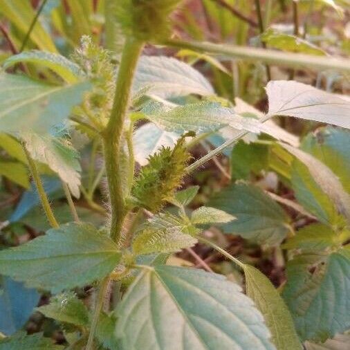
<svg viewBox="0 0 350 350"><path fill-rule="evenodd" d="M302 252L320 252L334 245L334 236L335 233L331 231L329 226L322 225L322 223L312 223L297 230L295 236L284 243L283 248L300 249Z"/></svg>

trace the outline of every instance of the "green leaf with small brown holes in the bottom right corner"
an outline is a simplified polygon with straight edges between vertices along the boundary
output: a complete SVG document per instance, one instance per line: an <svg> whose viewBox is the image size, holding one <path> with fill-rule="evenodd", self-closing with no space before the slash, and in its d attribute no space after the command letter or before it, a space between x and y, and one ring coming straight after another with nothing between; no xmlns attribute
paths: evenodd
<svg viewBox="0 0 350 350"><path fill-rule="evenodd" d="M324 341L350 327L350 250L288 262L283 297L302 340Z"/></svg>

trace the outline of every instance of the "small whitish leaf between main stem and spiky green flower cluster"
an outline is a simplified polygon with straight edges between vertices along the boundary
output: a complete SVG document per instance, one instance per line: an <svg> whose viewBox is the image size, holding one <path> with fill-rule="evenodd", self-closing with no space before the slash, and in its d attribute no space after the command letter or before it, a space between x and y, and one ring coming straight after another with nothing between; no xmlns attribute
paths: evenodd
<svg viewBox="0 0 350 350"><path fill-rule="evenodd" d="M178 135L158 128L153 122L139 127L133 134L135 159L140 165L148 163L148 157L153 156L160 147L174 148Z"/></svg>

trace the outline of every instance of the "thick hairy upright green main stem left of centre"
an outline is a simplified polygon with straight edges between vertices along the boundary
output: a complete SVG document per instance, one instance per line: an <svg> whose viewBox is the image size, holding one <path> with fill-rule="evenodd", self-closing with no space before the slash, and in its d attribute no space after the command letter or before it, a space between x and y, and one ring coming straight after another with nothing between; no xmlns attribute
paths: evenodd
<svg viewBox="0 0 350 350"><path fill-rule="evenodd" d="M120 241L122 223L127 214L122 190L123 169L120 161L122 133L129 108L133 75L143 46L143 42L132 38L128 38L125 42L111 116L106 129L102 132L106 174L111 199L111 239L117 243Z"/></svg>

